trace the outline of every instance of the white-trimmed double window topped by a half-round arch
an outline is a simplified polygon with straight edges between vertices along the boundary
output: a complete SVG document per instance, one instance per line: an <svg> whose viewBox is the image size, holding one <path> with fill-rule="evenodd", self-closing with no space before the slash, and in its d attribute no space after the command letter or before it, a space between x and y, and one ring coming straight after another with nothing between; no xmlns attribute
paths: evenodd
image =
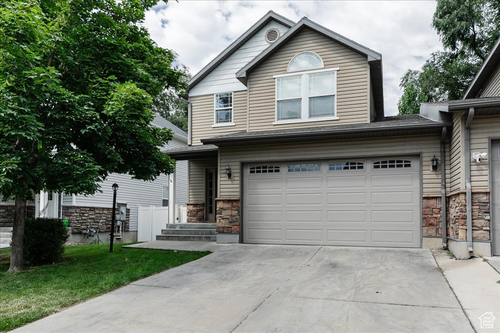
<svg viewBox="0 0 500 333"><path fill-rule="evenodd" d="M334 120L336 117L336 71L322 68L312 52L295 56L288 65L292 73L274 75L276 118L274 124ZM320 68L320 69L314 69ZM301 72L296 72L301 70Z"/></svg>

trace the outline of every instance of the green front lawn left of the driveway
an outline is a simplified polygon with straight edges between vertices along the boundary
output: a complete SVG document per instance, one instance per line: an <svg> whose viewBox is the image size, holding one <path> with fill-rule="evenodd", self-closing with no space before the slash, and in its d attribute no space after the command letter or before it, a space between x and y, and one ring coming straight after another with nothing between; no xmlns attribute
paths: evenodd
<svg viewBox="0 0 500 333"><path fill-rule="evenodd" d="M65 246L63 261L10 274L10 250L0 250L0 332L58 312L130 282L210 252Z"/></svg>

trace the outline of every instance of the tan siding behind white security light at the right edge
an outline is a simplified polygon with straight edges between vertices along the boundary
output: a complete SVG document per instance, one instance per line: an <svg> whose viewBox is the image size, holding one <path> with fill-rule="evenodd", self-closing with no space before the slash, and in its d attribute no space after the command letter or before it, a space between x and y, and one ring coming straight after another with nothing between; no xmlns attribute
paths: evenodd
<svg viewBox="0 0 500 333"><path fill-rule="evenodd" d="M470 152L488 153L488 138L500 137L500 117L476 116L470 125ZM470 163L470 157L466 162ZM472 189L488 188L488 160L470 163L470 182Z"/></svg>

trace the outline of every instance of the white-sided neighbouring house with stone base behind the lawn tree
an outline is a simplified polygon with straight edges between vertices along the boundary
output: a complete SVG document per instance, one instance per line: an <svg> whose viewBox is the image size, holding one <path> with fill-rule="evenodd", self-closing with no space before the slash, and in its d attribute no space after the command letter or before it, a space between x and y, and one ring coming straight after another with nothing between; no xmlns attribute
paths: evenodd
<svg viewBox="0 0 500 333"><path fill-rule="evenodd" d="M161 148L162 151L187 144L187 134L161 116L156 115L152 124L172 130L172 140ZM176 162L174 176L161 174L152 182L132 179L128 174L109 174L105 181L99 183L102 193L97 192L94 195L41 192L35 195L33 203L29 203L27 215L67 219L72 231L71 240L80 239L81 229L89 224L99 226L101 230L106 228L109 230L113 198L111 185L113 183L117 183L119 186L116 192L117 205L127 207L125 239L136 240L139 206L168 206L170 219L175 219L176 216L172 213L175 214L176 206L186 205L187 162ZM170 200L170 198L174 198L174 200ZM2 202L0 206L1 226L10 227L13 219L13 201Z"/></svg>

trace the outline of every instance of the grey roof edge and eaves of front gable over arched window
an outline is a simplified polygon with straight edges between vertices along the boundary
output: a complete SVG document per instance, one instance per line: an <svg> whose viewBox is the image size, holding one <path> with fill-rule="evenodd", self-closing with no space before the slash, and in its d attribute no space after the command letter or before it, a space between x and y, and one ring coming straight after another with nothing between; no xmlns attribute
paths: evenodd
<svg viewBox="0 0 500 333"><path fill-rule="evenodd" d="M292 28L286 31L272 45L267 47L253 60L248 62L243 68L236 72L236 78L246 85L248 74L258 65L264 62L271 54L277 51L288 40L293 38L304 28L309 28L337 43L343 45L354 52L364 55L368 58L370 65L371 87L373 89L373 99L375 104L376 116L383 117L383 82L382 82L382 55L372 49L369 49L353 40L350 40L336 32L333 32L322 25L319 25L307 17L302 17Z"/></svg>

